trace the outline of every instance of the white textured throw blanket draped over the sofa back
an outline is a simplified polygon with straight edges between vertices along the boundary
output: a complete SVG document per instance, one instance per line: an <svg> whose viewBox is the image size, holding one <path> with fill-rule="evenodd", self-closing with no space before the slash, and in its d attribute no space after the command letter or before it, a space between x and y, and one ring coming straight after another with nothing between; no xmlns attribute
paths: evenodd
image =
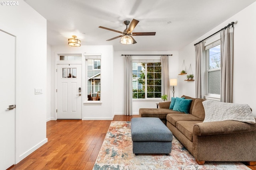
<svg viewBox="0 0 256 170"><path fill-rule="evenodd" d="M224 103L213 100L202 102L205 111L204 122L235 120L255 123L250 106L247 104Z"/></svg>

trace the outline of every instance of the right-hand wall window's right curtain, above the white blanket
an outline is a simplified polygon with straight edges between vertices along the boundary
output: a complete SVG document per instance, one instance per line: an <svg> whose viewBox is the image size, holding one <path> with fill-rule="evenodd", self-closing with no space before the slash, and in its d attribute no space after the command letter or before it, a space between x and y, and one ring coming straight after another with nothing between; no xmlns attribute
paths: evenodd
<svg viewBox="0 0 256 170"><path fill-rule="evenodd" d="M234 27L220 31L221 90L220 101L232 103Z"/></svg>

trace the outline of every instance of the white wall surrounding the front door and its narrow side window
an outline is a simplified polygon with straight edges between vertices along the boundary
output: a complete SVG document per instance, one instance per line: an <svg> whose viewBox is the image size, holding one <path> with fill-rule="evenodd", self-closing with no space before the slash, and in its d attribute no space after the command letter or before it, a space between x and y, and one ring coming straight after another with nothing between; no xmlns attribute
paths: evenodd
<svg viewBox="0 0 256 170"><path fill-rule="evenodd" d="M51 47L51 118L56 120L55 106L55 79L56 79L56 55L57 54L101 54L101 105L82 105L83 120L112 120L114 117L114 86L113 86L113 47L110 45L82 45L81 47L70 47L68 45L56 45ZM84 63L85 64L85 63ZM82 65L83 67L83 65ZM82 68L84 70L84 68ZM86 77L82 71L82 77ZM82 89L85 88L82 82ZM82 91L82 101L87 100L86 92Z"/></svg>

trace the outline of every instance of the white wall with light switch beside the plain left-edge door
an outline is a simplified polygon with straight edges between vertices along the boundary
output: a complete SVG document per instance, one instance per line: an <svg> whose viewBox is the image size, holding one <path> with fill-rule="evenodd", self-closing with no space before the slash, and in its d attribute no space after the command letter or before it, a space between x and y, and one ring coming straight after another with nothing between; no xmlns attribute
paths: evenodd
<svg viewBox="0 0 256 170"><path fill-rule="evenodd" d="M0 7L0 29L16 36L16 163L47 142L46 20L23 0ZM2 40L3 41L3 40ZM34 94L42 88L43 94Z"/></svg>

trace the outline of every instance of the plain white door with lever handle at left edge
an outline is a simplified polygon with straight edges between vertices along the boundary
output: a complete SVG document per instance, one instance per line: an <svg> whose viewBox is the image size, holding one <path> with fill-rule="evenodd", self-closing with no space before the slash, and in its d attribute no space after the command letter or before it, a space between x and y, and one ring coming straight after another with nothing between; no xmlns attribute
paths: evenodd
<svg viewBox="0 0 256 170"><path fill-rule="evenodd" d="M5 170L15 163L16 37L0 30L0 39L0 169Z"/></svg>

